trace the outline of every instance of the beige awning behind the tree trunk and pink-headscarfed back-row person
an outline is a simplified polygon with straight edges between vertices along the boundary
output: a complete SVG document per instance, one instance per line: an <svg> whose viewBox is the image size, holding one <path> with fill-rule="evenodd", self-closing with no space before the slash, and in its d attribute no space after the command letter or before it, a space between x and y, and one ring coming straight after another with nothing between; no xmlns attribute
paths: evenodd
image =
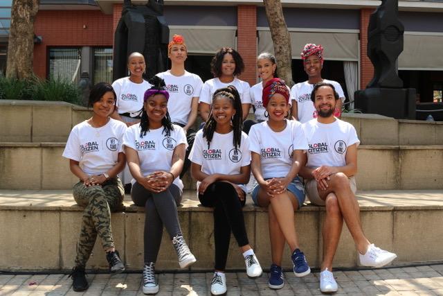
<svg viewBox="0 0 443 296"><path fill-rule="evenodd" d="M300 51L307 43L321 44L325 48L326 60L359 60L359 34L340 32L291 31L292 58L300 59ZM258 53L273 53L273 43L269 29L258 31Z"/></svg>

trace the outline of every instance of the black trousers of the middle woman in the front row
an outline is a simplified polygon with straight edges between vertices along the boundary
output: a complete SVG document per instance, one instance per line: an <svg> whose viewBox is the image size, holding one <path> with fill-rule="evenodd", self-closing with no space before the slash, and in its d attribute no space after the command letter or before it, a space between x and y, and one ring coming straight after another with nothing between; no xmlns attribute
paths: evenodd
<svg viewBox="0 0 443 296"><path fill-rule="evenodd" d="M249 244L242 210L246 199L239 200L233 185L217 181L199 195L199 200L204 207L214 208L215 269L224 270L231 230L239 247Z"/></svg>

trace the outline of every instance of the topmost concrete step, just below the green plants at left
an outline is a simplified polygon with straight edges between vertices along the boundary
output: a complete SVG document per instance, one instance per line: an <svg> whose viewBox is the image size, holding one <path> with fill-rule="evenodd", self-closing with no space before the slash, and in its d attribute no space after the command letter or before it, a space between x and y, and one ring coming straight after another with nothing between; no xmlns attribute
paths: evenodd
<svg viewBox="0 0 443 296"><path fill-rule="evenodd" d="M1 100L0 142L65 142L90 116L90 108L65 102ZM343 120L354 125L363 145L443 145L443 122L377 114L343 114Z"/></svg>

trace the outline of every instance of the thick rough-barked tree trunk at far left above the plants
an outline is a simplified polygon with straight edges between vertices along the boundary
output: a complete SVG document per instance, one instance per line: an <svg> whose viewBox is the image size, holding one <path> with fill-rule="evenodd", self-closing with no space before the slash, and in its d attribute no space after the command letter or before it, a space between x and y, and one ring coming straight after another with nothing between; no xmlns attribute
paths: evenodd
<svg viewBox="0 0 443 296"><path fill-rule="evenodd" d="M39 0L13 0L8 41L6 77L28 78L33 75L34 19Z"/></svg>

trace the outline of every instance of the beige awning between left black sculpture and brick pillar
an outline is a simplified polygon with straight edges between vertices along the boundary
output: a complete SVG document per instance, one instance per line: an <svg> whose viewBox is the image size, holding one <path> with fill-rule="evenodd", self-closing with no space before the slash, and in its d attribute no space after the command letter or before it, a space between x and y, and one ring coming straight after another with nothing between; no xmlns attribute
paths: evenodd
<svg viewBox="0 0 443 296"><path fill-rule="evenodd" d="M170 26L170 37L183 35L188 53L208 53L213 55L221 47L236 48L237 28L227 26Z"/></svg>

